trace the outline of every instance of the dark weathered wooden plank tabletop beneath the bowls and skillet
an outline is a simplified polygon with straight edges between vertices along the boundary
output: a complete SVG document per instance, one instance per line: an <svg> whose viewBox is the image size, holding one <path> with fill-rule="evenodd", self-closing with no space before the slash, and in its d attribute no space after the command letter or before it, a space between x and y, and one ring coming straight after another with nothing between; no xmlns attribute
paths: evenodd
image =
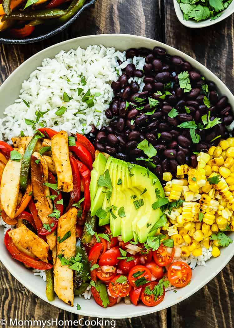
<svg viewBox="0 0 234 328"><path fill-rule="evenodd" d="M188 29L178 21L172 0L98 0L66 31L29 45L0 45L0 81L34 53L87 34L129 33L147 36L189 54L234 92L234 15L206 29ZM10 96L10 95L9 95ZM0 264L0 318L77 319L50 306L21 285ZM234 260L204 288L178 305L145 317L116 320L116 327L231 328L234 326Z"/></svg>

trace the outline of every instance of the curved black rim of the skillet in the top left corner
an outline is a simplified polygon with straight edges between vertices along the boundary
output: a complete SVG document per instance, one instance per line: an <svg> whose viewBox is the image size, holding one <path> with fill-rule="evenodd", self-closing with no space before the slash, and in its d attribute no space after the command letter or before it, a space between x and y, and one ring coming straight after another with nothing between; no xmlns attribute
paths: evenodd
<svg viewBox="0 0 234 328"><path fill-rule="evenodd" d="M64 31L66 28L68 28L68 26L70 26L86 8L94 5L96 3L96 1L97 0L89 0L88 2L86 2L84 4L84 6L80 10L77 11L77 13L75 15L73 15L70 19L68 19L67 22L55 27L53 30L51 30L48 33L44 33L39 36L35 36L35 37L31 37L31 38L29 37L29 38L25 38L25 39L9 39L9 38L1 38L0 37L0 42L5 43L5 44L28 44L28 43L35 43L38 41L46 40L46 39L50 38L51 36L58 34L62 31Z"/></svg>

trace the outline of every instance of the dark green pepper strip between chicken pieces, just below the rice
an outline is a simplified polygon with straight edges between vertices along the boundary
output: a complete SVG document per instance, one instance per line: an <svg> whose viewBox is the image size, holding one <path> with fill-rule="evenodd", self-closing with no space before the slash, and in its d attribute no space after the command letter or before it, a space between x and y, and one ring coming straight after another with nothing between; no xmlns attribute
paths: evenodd
<svg viewBox="0 0 234 328"><path fill-rule="evenodd" d="M26 191L27 188L28 179L29 179L29 170L30 170L30 159L34 151L34 148L36 146L37 140L38 140L38 134L35 134L30 140L22 159L21 168L20 168L20 188L22 188L23 191Z"/></svg>

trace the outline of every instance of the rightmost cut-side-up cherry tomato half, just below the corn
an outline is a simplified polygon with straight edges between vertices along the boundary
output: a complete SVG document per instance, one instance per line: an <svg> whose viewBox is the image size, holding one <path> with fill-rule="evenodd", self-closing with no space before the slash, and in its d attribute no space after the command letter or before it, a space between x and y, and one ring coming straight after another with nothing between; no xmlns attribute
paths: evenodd
<svg viewBox="0 0 234 328"><path fill-rule="evenodd" d="M173 262L167 271L167 277L170 283L175 287L186 286L192 277L190 266L181 261Z"/></svg>

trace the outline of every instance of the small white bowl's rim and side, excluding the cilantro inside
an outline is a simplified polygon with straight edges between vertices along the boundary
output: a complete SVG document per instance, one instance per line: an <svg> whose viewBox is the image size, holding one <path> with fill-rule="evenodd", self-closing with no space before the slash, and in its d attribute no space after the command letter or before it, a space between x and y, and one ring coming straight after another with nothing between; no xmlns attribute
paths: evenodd
<svg viewBox="0 0 234 328"><path fill-rule="evenodd" d="M200 22L196 22L193 19L189 19L188 21L186 21L184 19L183 12L180 9L180 4L178 4L177 0L173 0L173 1L174 1L174 8L175 8L177 18L179 19L181 24L185 25L186 27L190 27L191 29L199 29L202 27L214 25L216 23L221 22L223 19L227 18L234 12L234 1L232 1L230 3L230 5L222 12L221 16L218 17L217 19L210 20L210 18L208 18L208 19L206 19L204 21L200 21Z"/></svg>

